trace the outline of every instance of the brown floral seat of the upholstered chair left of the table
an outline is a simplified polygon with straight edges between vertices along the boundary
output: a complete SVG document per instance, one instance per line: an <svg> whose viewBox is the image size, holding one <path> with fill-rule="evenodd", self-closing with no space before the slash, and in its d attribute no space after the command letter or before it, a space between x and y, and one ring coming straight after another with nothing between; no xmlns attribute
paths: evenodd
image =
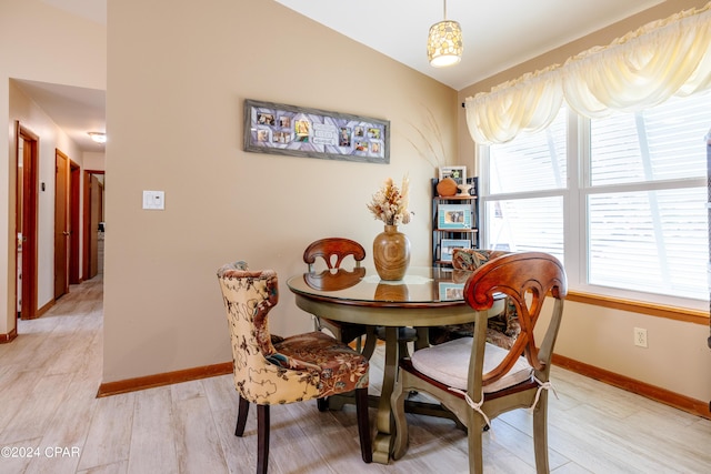
<svg viewBox="0 0 711 474"><path fill-rule="evenodd" d="M274 349L320 374L319 397L368 386L368 359L320 331L284 337Z"/></svg>

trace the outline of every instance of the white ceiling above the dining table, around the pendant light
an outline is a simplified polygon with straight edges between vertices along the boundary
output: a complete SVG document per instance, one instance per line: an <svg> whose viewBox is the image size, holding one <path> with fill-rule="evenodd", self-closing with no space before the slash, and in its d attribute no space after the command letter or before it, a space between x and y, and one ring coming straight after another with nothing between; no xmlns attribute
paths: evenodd
<svg viewBox="0 0 711 474"><path fill-rule="evenodd" d="M461 90L663 0L449 0L462 27L462 61L432 68L427 34L442 0L276 0L353 40ZM670 0L673 1L673 0Z"/></svg>

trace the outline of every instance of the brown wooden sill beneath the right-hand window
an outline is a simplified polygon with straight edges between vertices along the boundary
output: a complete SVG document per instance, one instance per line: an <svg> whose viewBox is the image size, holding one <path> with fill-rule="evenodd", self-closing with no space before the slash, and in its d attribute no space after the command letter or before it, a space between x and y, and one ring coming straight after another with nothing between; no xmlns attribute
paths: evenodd
<svg viewBox="0 0 711 474"><path fill-rule="evenodd" d="M568 301L592 304L594 306L611 307L613 310L630 311L633 313L649 314L650 316L667 317L669 320L685 321L694 324L709 324L709 312L688 307L665 306L663 304L645 303L641 301L624 300L620 297L603 296L600 294L568 292Z"/></svg>

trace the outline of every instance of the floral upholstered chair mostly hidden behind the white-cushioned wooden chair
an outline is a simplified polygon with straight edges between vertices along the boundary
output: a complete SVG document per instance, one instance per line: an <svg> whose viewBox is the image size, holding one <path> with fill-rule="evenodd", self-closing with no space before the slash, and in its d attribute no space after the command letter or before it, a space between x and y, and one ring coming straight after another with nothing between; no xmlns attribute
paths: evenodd
<svg viewBox="0 0 711 474"><path fill-rule="evenodd" d="M452 250L452 266L455 270L473 271L490 260L505 255L509 252L483 249L454 249ZM441 344L454 339L471 336L473 323L453 324L430 329L430 342ZM515 339L521 333L521 325L515 313L515 306L507 301L505 310L489 319L487 329L487 342L502 349L511 349Z"/></svg>

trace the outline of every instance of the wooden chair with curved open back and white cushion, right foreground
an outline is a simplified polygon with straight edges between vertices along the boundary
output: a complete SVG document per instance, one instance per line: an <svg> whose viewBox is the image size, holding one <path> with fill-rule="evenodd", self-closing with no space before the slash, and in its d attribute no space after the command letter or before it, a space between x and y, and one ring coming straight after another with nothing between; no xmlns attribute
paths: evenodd
<svg viewBox="0 0 711 474"><path fill-rule="evenodd" d="M487 342L485 310L501 294L515 306L521 324L510 350ZM549 472L547 389L565 294L563 266L545 253L510 253L479 266L464 285L464 299L477 311L473 337L432 345L400 361L391 396L395 417L393 457L400 458L407 451L404 399L417 391L440 401L467 426L471 473L482 472L482 431L490 426L490 420L514 409L531 407L537 472ZM547 295L554 300L550 319L541 316ZM548 323L540 349L533 337L537 323Z"/></svg>

